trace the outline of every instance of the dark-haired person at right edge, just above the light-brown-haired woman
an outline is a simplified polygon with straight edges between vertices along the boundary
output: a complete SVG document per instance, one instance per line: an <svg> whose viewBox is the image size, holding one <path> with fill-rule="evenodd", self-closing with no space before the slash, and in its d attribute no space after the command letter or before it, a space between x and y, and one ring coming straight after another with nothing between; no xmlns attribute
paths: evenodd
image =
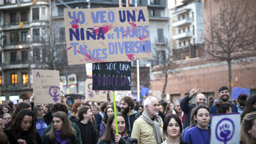
<svg viewBox="0 0 256 144"><path fill-rule="evenodd" d="M252 113L253 111L256 110L255 103L256 103L256 95L250 96L244 107L243 113L241 114L241 121L243 121L243 118L246 114Z"/></svg>

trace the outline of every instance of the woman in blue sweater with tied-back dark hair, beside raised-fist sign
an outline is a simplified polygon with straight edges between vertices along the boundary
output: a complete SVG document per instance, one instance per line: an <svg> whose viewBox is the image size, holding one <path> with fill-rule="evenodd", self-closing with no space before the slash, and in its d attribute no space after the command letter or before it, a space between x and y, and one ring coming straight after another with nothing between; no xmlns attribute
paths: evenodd
<svg viewBox="0 0 256 144"><path fill-rule="evenodd" d="M211 133L208 124L210 122L210 110L204 105L199 105L195 108L194 118L197 126L186 131L183 140L191 143L210 143Z"/></svg>

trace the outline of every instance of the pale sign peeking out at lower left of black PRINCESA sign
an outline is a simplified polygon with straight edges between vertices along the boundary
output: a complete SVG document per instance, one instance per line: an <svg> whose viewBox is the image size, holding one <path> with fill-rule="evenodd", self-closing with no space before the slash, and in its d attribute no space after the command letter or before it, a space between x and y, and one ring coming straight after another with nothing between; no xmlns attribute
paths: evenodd
<svg viewBox="0 0 256 144"><path fill-rule="evenodd" d="M93 91L92 79L87 78L85 81L85 100L86 101L107 101L108 91Z"/></svg>

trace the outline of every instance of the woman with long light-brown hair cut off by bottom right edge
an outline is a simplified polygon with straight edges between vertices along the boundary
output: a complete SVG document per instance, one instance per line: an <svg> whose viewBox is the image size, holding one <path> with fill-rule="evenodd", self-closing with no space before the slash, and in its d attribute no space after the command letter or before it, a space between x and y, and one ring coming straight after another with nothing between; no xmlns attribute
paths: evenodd
<svg viewBox="0 0 256 144"><path fill-rule="evenodd" d="M256 143L256 111L246 114L240 128L240 143Z"/></svg>

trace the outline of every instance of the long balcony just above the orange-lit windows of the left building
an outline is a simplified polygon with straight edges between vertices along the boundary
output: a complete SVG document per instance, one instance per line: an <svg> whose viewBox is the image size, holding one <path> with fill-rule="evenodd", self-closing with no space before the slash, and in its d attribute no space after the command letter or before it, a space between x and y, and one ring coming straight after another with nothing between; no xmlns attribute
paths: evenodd
<svg viewBox="0 0 256 144"><path fill-rule="evenodd" d="M29 61L5 62L2 64L3 69L30 68Z"/></svg>

